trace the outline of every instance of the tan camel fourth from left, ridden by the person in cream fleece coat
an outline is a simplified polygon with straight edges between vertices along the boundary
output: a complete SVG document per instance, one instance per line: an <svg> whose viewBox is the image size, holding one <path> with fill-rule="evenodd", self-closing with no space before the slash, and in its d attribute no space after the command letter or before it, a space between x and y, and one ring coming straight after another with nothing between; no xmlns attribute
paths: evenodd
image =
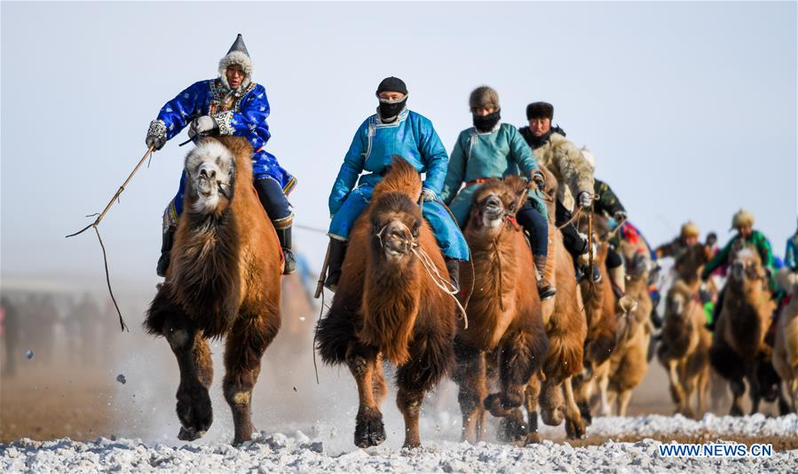
<svg viewBox="0 0 798 474"><path fill-rule="evenodd" d="M572 378L581 374L587 323L581 305L580 289L576 285L571 254L565 250L563 235L554 224L554 202L557 180L548 170L546 175L547 203L549 207L549 265L547 278L557 287L557 296L541 303L543 325L549 336L549 352L543 362L541 377L533 376L526 386L526 412L528 415L527 443L540 441L538 434L538 401L543 423L557 426L565 415L565 432L569 438L585 435L586 423L582 419L573 393ZM565 396L565 400L563 397ZM510 422L506 417L502 422ZM515 431L509 429L505 431Z"/></svg>

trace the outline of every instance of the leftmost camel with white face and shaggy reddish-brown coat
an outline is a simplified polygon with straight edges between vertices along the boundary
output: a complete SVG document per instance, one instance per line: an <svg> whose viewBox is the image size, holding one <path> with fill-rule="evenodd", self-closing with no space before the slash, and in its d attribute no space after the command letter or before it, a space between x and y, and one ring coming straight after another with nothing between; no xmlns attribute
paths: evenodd
<svg viewBox="0 0 798 474"><path fill-rule="evenodd" d="M148 333L166 337L178 359L183 440L200 438L213 421L207 340L222 336L233 443L252 438L252 390L280 328L282 255L250 185L250 156L252 146L239 137L204 138L186 156L185 211L172 263L144 322Z"/></svg>

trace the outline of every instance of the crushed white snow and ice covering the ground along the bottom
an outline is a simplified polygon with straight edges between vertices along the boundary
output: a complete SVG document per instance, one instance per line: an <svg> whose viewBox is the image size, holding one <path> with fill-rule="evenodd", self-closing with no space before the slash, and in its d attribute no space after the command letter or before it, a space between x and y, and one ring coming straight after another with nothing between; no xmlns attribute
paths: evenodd
<svg viewBox="0 0 798 474"><path fill-rule="evenodd" d="M549 429L548 430L553 430ZM762 472L798 470L798 450L774 452L767 458L664 457L659 441L636 443L606 441L600 446L573 447L544 441L515 447L494 443L470 445L444 439L428 440L416 450L375 446L330 452L328 441L342 436L322 425L312 436L302 431L286 436L261 432L240 447L212 443L169 446L140 439L99 438L77 442L68 438L32 441L24 438L0 445L0 470L4 472L77 472L93 470L170 472L317 472L317 471L444 471L444 472ZM765 418L762 415L731 418L707 415L701 421L681 416L597 418L591 435L663 435L712 432L723 436L798 436L798 416ZM545 431L544 431L545 433ZM347 433L347 438L349 433Z"/></svg>

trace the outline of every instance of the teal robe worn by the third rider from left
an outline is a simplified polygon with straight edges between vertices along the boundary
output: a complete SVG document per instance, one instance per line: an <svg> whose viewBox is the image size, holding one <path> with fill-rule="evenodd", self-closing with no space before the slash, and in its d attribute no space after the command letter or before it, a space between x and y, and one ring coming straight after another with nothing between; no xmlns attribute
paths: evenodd
<svg viewBox="0 0 798 474"><path fill-rule="evenodd" d="M466 186L480 178L503 178L518 175L530 178L540 170L532 149L510 123L502 123L493 131L479 132L474 127L462 130L449 158L441 199L446 202L461 227L468 220L471 201L479 185ZM548 217L546 206L537 190L529 192L543 217Z"/></svg>

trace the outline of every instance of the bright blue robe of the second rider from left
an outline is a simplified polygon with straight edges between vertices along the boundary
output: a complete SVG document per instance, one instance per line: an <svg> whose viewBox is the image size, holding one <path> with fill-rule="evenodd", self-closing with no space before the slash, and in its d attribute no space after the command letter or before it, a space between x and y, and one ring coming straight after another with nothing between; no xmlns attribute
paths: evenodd
<svg viewBox="0 0 798 474"><path fill-rule="evenodd" d="M423 187L440 195L449 158L432 122L407 109L391 123L372 115L352 138L329 195L329 212L333 215L330 237L349 240L352 225L371 201L374 186L383 179L394 154L402 156L419 173L425 173ZM364 170L370 173L360 176ZM424 202L423 216L446 257L468 260L468 244L441 202Z"/></svg>

